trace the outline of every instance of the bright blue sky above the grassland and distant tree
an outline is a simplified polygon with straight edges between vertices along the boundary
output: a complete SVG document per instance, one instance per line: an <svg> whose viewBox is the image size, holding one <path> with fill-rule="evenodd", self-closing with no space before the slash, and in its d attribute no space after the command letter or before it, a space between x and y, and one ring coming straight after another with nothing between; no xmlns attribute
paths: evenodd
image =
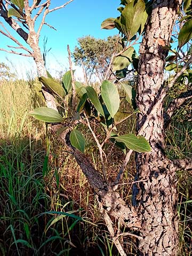
<svg viewBox="0 0 192 256"><path fill-rule="evenodd" d="M63 0L52 0L52 6L59 6L65 2ZM61 70L68 68L67 44L73 51L79 37L91 35L97 38L106 38L110 35L118 34L116 29L101 30L100 25L106 18L115 18L119 15L117 11L119 2L119 0L74 0L64 9L47 15L46 22L57 29L55 31L44 26L41 33L41 48L44 37L48 38L47 49L51 47L47 58L48 68L60 68ZM0 19L0 21L2 20ZM11 29L9 30L11 32ZM0 47L6 48L7 44L11 44L9 39L0 34ZM0 61L7 62L6 58L11 60L18 68L20 67L21 70L23 70L23 66L28 69L34 69L33 59L0 51Z"/></svg>

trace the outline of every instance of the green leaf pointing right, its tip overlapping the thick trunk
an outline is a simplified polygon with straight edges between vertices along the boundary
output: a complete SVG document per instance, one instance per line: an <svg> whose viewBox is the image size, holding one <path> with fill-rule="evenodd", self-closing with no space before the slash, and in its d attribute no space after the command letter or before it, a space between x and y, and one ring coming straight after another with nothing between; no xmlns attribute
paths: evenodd
<svg viewBox="0 0 192 256"><path fill-rule="evenodd" d="M150 152L151 150L149 142L144 137L132 133L114 137L114 139L123 142L127 148L139 153Z"/></svg>

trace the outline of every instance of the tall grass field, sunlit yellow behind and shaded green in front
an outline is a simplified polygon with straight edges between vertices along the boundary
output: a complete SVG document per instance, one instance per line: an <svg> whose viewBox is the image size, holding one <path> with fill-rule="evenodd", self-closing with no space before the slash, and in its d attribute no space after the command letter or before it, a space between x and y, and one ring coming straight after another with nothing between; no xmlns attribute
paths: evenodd
<svg viewBox="0 0 192 256"><path fill-rule="evenodd" d="M46 137L42 122L27 115L43 104L31 87L22 80L0 85L0 255L118 255L98 202L73 157L57 139ZM171 159L191 157L191 125L185 121L184 110L174 116L166 132ZM122 128L132 131L134 120L128 122ZM95 129L102 135L97 124ZM98 166L99 153L91 133L82 132L89 141L87 153ZM107 175L113 179L123 153L112 148L108 158ZM134 179L133 161L124 182ZM178 172L178 179L179 255L189 256L192 179L185 171ZM131 200L130 186L122 186L119 192L126 201ZM135 254L134 239L125 239L124 246L129 255Z"/></svg>

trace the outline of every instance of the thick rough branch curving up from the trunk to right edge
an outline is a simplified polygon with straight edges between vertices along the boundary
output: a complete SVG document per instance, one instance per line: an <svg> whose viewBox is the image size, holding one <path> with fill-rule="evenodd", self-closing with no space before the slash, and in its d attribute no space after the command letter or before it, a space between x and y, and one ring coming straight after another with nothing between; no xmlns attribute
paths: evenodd
<svg viewBox="0 0 192 256"><path fill-rule="evenodd" d="M192 99L192 90L187 92L183 92L179 95L177 99L172 100L172 102L167 107L167 110L164 114L164 127L166 128L167 125L171 121L171 117L175 110L181 107L187 100Z"/></svg>

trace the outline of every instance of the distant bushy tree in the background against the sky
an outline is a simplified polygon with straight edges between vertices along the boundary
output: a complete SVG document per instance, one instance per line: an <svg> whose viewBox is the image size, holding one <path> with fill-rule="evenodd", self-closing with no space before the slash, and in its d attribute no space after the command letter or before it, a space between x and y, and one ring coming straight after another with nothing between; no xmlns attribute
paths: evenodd
<svg viewBox="0 0 192 256"><path fill-rule="evenodd" d="M113 74L112 70L108 77L105 76L111 57L123 49L119 41L119 36L109 36L107 39L85 36L78 39L78 46L74 49L73 58L77 65L83 67L87 83L93 74L99 78L100 82L105 78L110 78Z"/></svg>

